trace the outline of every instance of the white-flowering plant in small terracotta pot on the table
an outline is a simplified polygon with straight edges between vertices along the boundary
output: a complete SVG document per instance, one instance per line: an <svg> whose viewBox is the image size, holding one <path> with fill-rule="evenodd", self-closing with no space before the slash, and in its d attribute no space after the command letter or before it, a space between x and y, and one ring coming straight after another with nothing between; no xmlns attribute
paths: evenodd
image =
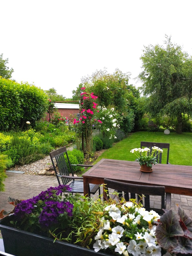
<svg viewBox="0 0 192 256"><path fill-rule="evenodd" d="M131 153L135 153L137 156L136 160L139 162L141 168L140 171L143 172L152 172L152 164L157 164L156 156L159 153L162 153L163 150L156 146L152 147L152 151L150 152L150 148L134 148L130 151Z"/></svg>

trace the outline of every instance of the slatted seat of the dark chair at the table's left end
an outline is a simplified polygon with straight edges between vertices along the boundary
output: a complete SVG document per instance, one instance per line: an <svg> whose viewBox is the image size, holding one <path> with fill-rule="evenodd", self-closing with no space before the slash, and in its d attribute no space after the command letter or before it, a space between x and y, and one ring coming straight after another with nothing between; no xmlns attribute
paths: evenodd
<svg viewBox="0 0 192 256"><path fill-rule="evenodd" d="M70 188L72 189L71 191L66 191L66 192L79 193L79 194L83 193L83 180L78 180L78 181L74 180L70 183L67 183L66 185L69 185ZM93 195L95 195L95 193L99 189L99 185L95 185L95 184L89 184L89 187L90 187L90 193Z"/></svg>

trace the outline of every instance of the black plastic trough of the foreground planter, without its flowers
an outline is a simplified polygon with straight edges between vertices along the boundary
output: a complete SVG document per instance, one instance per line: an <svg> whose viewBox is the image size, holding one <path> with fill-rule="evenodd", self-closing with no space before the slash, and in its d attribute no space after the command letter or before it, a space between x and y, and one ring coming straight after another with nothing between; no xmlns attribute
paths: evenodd
<svg viewBox="0 0 192 256"><path fill-rule="evenodd" d="M15 256L109 256L77 245L71 245L17 228L9 227L11 216L0 221L5 253Z"/></svg>

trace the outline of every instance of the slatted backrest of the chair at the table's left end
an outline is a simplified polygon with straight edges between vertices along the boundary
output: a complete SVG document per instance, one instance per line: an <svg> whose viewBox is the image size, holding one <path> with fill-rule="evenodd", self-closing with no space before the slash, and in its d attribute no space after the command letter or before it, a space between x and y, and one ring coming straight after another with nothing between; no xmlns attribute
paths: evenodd
<svg viewBox="0 0 192 256"><path fill-rule="evenodd" d="M58 167L58 171L60 175L67 175L69 176L69 171L68 171L68 167L70 168L70 172L72 174L72 176L74 176L73 174L73 170L71 168L70 165L70 161L69 161L69 157L67 154L67 149L66 147L62 147L59 148L55 151L52 151L51 153L49 153L53 167L54 167L54 171L57 174L57 169L55 166L55 161L57 163L57 167ZM59 177L56 175L58 183L60 184L60 179ZM67 184L71 179L67 179L67 178L61 178L62 179L62 183L65 185Z"/></svg>

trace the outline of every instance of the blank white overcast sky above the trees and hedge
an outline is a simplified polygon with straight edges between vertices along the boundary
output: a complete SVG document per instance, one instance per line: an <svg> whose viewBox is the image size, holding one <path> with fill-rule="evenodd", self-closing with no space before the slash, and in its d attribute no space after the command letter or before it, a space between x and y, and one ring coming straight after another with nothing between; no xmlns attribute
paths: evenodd
<svg viewBox="0 0 192 256"><path fill-rule="evenodd" d="M144 45L164 35L192 55L189 0L0 0L0 54L12 78L72 96L97 69L141 71Z"/></svg>

